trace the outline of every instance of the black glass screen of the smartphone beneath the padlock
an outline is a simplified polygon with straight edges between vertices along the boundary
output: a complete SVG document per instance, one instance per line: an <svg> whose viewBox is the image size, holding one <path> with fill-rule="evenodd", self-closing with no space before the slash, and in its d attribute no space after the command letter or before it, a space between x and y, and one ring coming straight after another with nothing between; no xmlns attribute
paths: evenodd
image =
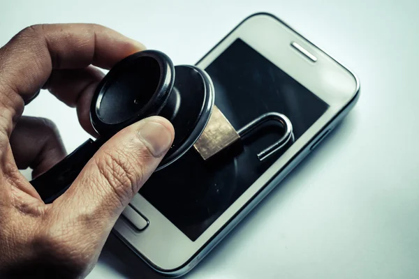
<svg viewBox="0 0 419 279"><path fill-rule="evenodd" d="M240 39L205 70L214 82L216 106L236 130L261 114L279 112L293 123L297 140L328 109L327 103ZM208 162L190 149L155 172L140 194L196 241L281 156L284 151L260 162L256 154L283 133L265 123L240 141L240 149Z"/></svg>

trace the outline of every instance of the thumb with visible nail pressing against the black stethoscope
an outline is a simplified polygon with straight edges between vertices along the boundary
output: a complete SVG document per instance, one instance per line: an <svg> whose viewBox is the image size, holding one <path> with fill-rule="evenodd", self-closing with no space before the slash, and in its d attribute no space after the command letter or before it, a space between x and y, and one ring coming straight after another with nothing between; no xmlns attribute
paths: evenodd
<svg viewBox="0 0 419 279"><path fill-rule="evenodd" d="M64 205L73 214L80 211L76 218L99 218L112 227L158 167L174 134L172 124L159 116L124 128L101 146L53 206Z"/></svg>

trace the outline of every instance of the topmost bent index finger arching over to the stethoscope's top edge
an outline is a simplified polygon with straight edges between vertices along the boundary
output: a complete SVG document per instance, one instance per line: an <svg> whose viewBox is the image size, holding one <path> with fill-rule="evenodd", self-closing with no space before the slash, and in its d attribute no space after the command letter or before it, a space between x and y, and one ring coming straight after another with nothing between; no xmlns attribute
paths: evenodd
<svg viewBox="0 0 419 279"><path fill-rule="evenodd" d="M110 68L144 46L96 24L28 27L0 49L0 129L10 135L24 100L40 89L52 69Z"/></svg>

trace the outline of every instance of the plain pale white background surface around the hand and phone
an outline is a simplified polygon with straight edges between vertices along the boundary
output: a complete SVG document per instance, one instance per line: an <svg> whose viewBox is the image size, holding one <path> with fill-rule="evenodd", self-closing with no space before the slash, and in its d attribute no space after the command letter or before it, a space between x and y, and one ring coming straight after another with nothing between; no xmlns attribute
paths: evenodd
<svg viewBox="0 0 419 279"><path fill-rule="evenodd" d="M29 24L94 22L196 63L244 17L277 15L360 77L346 120L186 278L419 278L417 0L4 1L0 44ZM0 77L1 78L1 77ZM70 152L75 111L42 92ZM154 278L111 237L89 278Z"/></svg>

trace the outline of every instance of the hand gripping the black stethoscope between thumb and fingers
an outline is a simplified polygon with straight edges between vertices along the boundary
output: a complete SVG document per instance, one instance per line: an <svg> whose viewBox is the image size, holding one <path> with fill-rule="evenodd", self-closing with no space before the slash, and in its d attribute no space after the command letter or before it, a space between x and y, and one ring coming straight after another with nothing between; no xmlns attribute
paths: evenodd
<svg viewBox="0 0 419 279"><path fill-rule="evenodd" d="M19 171L31 167L37 176L66 155L51 121L21 117L35 93L48 89L76 107L81 126L96 135L89 105L103 73L94 66L109 69L140 50L94 24L36 25L0 49L0 278L87 276L124 207L166 154L174 130L152 117L106 142L52 204Z"/></svg>

